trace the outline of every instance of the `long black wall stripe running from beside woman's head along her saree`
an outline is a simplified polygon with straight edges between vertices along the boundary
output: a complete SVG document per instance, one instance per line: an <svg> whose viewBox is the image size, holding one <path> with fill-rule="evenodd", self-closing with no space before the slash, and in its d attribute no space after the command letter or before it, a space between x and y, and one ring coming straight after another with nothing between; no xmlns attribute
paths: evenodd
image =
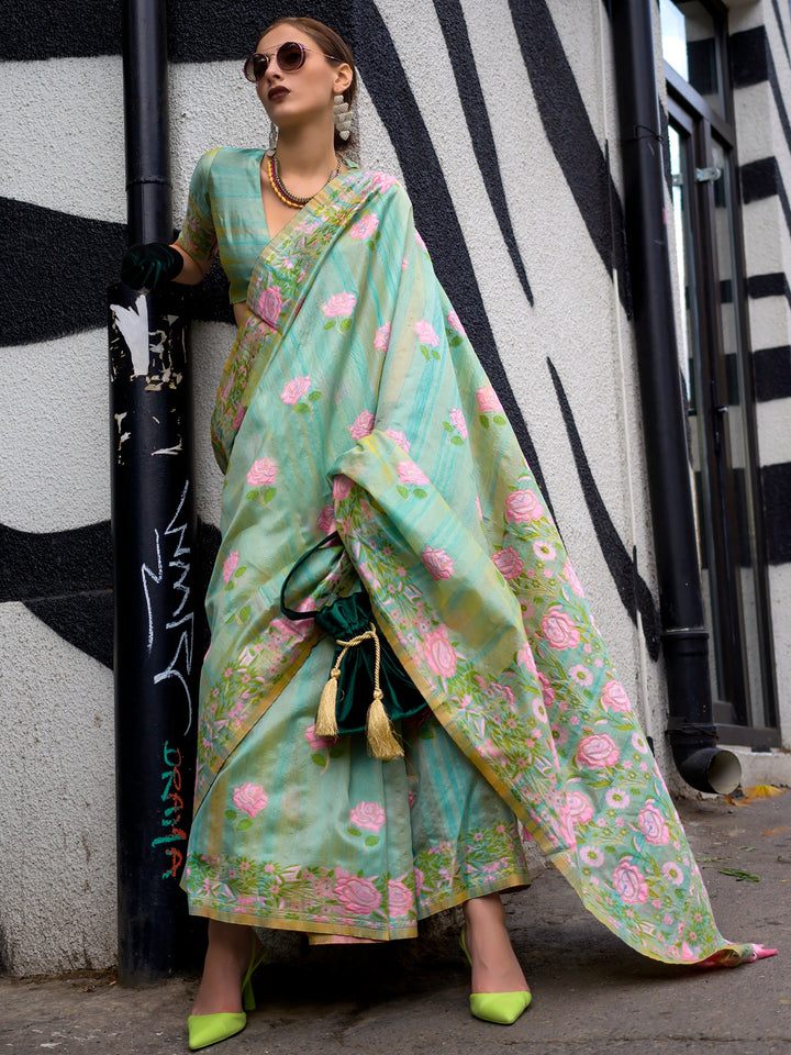
<svg viewBox="0 0 791 1055"><path fill-rule="evenodd" d="M381 14L374 4L367 9L366 32L357 41L356 58L374 106L398 155L406 190L413 202L417 227L430 249L436 252L434 266L439 281L459 311L472 345L497 389L520 446L552 510L538 455L500 358L439 159L401 65L401 58ZM415 158L419 159L416 164Z"/></svg>

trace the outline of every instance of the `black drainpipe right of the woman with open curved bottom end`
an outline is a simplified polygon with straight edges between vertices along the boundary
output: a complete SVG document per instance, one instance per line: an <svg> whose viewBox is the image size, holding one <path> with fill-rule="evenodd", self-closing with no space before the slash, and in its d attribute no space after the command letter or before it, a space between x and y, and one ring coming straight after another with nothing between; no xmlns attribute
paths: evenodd
<svg viewBox="0 0 791 1055"><path fill-rule="evenodd" d="M668 737L683 779L733 791L737 757L716 746L687 412L676 344L651 0L612 0L624 214L668 686Z"/></svg>

